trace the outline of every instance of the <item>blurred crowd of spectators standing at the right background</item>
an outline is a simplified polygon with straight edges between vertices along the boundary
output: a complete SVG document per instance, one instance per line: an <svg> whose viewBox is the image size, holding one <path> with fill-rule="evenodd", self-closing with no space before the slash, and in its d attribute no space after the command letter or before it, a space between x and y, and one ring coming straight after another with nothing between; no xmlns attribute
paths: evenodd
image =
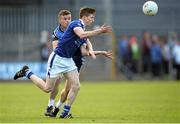
<svg viewBox="0 0 180 124"><path fill-rule="evenodd" d="M127 78L133 74L151 74L151 77L180 80L180 41L178 34L159 36L144 32L141 40L122 34L118 41L119 70Z"/></svg>

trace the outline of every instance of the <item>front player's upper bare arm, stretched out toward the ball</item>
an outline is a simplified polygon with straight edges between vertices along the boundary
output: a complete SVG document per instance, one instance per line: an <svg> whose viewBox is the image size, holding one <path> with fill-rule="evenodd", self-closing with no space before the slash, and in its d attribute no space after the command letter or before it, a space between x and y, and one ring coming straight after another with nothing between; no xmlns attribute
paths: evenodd
<svg viewBox="0 0 180 124"><path fill-rule="evenodd" d="M112 32L112 27L109 25L103 25L98 29L92 30L92 31L84 31L81 27L76 27L74 28L74 32L81 38L88 38L92 37L101 33L111 33Z"/></svg>

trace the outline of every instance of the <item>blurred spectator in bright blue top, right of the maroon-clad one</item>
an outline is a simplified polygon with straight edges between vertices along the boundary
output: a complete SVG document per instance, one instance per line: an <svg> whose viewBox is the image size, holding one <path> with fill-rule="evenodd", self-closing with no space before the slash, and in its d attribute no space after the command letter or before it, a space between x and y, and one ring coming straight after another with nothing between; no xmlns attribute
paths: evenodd
<svg viewBox="0 0 180 124"><path fill-rule="evenodd" d="M153 76L159 76L161 70L162 55L161 46L159 44L159 37L157 35L152 36L151 63Z"/></svg>

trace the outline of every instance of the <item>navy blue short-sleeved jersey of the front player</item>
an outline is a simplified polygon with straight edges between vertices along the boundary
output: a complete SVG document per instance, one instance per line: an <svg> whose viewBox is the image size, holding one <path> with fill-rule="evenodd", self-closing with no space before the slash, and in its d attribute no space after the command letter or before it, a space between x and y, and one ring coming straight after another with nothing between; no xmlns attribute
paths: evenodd
<svg viewBox="0 0 180 124"><path fill-rule="evenodd" d="M85 29L81 20L72 21L62 35L62 38L58 39L59 42L55 49L55 53L59 56L72 58L80 46L86 43L86 39L80 39L80 37L75 34L74 28L76 27Z"/></svg>

